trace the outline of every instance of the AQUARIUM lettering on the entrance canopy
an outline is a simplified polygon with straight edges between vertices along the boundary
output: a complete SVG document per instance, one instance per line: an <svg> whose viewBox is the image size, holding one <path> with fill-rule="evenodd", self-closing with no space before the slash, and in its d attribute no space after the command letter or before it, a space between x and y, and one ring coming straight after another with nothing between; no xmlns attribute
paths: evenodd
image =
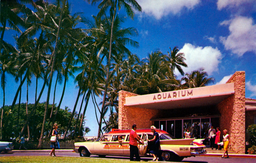
<svg viewBox="0 0 256 163"><path fill-rule="evenodd" d="M178 98L185 96L193 96L193 90L179 90L173 92L163 92L154 95L153 100L169 99L169 98Z"/></svg>

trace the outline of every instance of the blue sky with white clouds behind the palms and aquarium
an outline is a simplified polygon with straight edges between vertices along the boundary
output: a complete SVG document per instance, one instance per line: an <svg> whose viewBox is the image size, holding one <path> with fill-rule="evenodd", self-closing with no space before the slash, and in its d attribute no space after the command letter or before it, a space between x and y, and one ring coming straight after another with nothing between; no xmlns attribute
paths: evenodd
<svg viewBox="0 0 256 163"><path fill-rule="evenodd" d="M48 0L49 1L49 0ZM133 37L140 43L139 48L129 47L140 59L155 50L164 54L174 46L184 52L188 68L191 72L204 68L209 77L215 78L214 84L225 83L236 71L246 72L246 98L256 99L256 1L255 0L137 0L142 12L136 12L134 20L127 18L123 27L135 27L139 36ZM71 11L83 12L86 17L98 13L97 6L82 0L69 1ZM126 16L120 10L120 15ZM82 28L84 26L80 24ZM12 43L14 35L5 33L4 40ZM181 75L176 71L178 79ZM5 104L11 105L18 84L7 75ZM53 81L55 82L55 79ZM26 84L22 87L22 102L26 102ZM40 89L40 82L38 88ZM52 86L52 92L54 85ZM58 84L55 102L58 104L63 85ZM70 78L61 104L73 110L78 89ZM41 97L46 100L47 88ZM0 106L3 105L3 90L0 90ZM29 103L35 99L35 79L29 87ZM52 103L50 96L50 103ZM76 108L79 111L81 98ZM102 101L98 98L98 102ZM18 102L18 101L17 101ZM84 107L84 106L83 106ZM99 113L98 113L99 117ZM91 132L87 136L95 136L98 124L94 106L90 99L86 111L86 126Z"/></svg>

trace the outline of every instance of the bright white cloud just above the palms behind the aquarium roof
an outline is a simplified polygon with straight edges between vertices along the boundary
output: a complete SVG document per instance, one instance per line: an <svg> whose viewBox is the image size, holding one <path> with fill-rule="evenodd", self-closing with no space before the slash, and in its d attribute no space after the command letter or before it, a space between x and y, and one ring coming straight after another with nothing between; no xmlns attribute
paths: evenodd
<svg viewBox="0 0 256 163"><path fill-rule="evenodd" d="M183 68L185 73L191 73L191 71L202 67L208 75L211 75L212 72L218 71L218 64L222 58L219 49L211 46L196 47L192 44L186 43L179 52L183 52L184 57L186 58L185 62L188 67Z"/></svg>

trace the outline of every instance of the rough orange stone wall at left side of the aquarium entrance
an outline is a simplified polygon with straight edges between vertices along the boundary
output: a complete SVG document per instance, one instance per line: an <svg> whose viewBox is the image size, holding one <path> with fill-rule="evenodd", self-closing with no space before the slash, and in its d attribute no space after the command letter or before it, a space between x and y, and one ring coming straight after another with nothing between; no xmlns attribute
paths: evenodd
<svg viewBox="0 0 256 163"><path fill-rule="evenodd" d="M118 128L131 129L133 124L140 128L150 128L150 119L158 114L158 110L144 109L139 107L124 106L125 97L137 96L135 93L119 91L118 104Z"/></svg>

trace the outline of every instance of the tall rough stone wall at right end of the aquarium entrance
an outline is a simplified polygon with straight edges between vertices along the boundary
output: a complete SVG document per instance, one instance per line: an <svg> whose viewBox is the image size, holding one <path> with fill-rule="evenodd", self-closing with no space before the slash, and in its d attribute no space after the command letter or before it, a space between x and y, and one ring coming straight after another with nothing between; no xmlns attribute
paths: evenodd
<svg viewBox="0 0 256 163"><path fill-rule="evenodd" d="M245 72L237 71L227 81L234 82L234 95L218 104L221 113L220 128L230 134L230 148L245 153Z"/></svg>

